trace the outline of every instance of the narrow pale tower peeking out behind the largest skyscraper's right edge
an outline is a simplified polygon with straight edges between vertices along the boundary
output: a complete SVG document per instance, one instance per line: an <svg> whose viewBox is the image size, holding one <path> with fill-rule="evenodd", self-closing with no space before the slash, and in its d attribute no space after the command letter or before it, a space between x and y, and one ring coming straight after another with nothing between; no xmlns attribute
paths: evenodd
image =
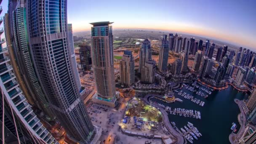
<svg viewBox="0 0 256 144"><path fill-rule="evenodd" d="M69 36L69 48L70 48L70 54L71 54L71 60L72 60L72 69L74 70L74 73L75 73L75 80L76 80L79 92L81 95L83 95L85 93L85 90L84 90L85 88L84 87L82 88L80 76L78 73L77 60L75 58L75 46L74 46L74 39L73 39L72 24L67 24L67 31Z"/></svg>

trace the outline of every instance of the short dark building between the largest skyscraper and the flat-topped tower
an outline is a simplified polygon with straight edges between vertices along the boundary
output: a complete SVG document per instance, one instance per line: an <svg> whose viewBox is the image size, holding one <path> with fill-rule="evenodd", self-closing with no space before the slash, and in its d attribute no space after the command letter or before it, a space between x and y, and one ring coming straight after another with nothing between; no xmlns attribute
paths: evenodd
<svg viewBox="0 0 256 144"><path fill-rule="evenodd" d="M91 69L91 46L79 45L80 64L84 71Z"/></svg>

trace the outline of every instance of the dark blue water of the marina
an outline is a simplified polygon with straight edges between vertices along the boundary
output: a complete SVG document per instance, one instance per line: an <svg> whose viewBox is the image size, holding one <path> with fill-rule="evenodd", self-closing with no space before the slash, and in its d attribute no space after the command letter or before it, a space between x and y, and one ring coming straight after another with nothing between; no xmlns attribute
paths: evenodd
<svg viewBox="0 0 256 144"><path fill-rule="evenodd" d="M197 88L195 89L198 90ZM202 133L202 136L198 138L198 140L193 140L194 144L229 144L229 134L232 132L230 129L232 123L234 122L238 125L237 131L240 128L237 120L240 109L237 104L235 104L234 99L248 99L248 94L238 92L232 86L229 86L226 90L212 91L211 95L208 95L208 98L205 99L195 92L187 90L185 87L181 90L192 94L194 98L205 101L204 107L179 96L176 92L174 93L175 97L183 100L183 102L176 101L175 103L165 103L155 98L152 98L152 101L169 106L171 109L184 108L201 112L201 120L193 117L171 115L168 112L170 122L175 122L177 128L184 128L184 125L190 122ZM180 91L180 89L178 91Z"/></svg>

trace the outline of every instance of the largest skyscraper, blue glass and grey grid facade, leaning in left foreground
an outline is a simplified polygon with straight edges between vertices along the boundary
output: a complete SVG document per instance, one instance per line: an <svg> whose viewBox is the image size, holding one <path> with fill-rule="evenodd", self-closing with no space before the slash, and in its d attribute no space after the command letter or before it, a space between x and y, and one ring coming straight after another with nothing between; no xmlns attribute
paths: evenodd
<svg viewBox="0 0 256 144"><path fill-rule="evenodd" d="M88 143L95 128L81 99L72 65L67 0L29 0L27 13L29 46L50 107L70 139Z"/></svg>

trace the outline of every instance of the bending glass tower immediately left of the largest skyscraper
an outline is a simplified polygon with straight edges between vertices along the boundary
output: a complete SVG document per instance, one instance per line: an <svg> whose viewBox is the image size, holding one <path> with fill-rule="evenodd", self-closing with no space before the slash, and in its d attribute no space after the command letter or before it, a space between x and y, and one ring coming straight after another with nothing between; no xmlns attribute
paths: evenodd
<svg viewBox="0 0 256 144"><path fill-rule="evenodd" d="M11 9L13 11L8 11L8 16L12 15L13 24L10 24L9 19L5 19L5 29L7 32L7 43L16 53L10 53L14 63L16 63L15 67L18 68L16 75L19 75L18 80L21 80L19 83L24 87L21 89L26 93L25 95L27 95L26 97L29 99L29 103L33 104L37 109L40 109L40 111L50 117L51 120L55 120L55 116L49 107L41 85L37 81L38 78L33 67L33 61L29 50L29 40L27 37L26 3L24 3L24 1L19 1L15 4L17 4L16 8ZM12 6L10 5L10 7ZM11 39L11 35L9 35L11 29L13 29L13 39Z"/></svg>

